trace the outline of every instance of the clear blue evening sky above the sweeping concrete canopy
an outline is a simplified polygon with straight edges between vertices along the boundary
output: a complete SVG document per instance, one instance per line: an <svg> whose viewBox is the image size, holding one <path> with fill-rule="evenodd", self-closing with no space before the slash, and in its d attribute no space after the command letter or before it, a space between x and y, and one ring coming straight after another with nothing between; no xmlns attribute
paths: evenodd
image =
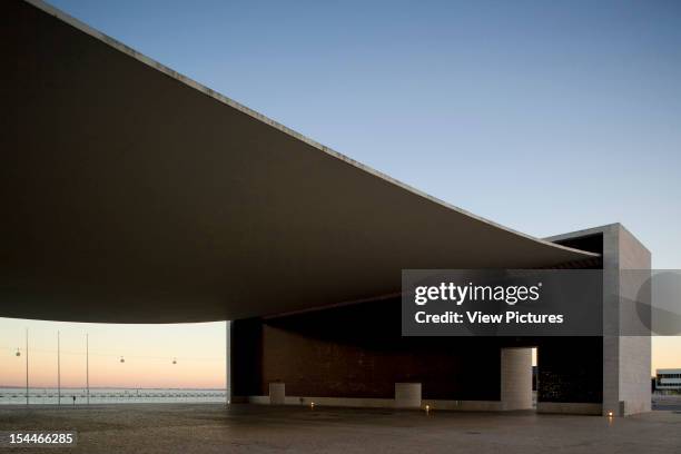
<svg viewBox="0 0 681 454"><path fill-rule="evenodd" d="M681 2L51 3L452 205L537 237L622 223L681 268Z"/></svg>

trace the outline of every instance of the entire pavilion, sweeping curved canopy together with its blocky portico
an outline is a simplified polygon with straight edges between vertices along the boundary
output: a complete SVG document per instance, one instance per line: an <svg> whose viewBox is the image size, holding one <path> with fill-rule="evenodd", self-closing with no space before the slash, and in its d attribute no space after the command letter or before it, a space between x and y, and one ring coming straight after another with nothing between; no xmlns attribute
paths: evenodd
<svg viewBox="0 0 681 454"><path fill-rule="evenodd" d="M650 269L619 224L534 238L216 93L39 1L2 2L0 316L228 322L231 402L650 409ZM462 161L465 162L462 151ZM481 185L485 181L481 181ZM550 216L547 210L545 216ZM403 269L602 269L608 335L403 337Z"/></svg>

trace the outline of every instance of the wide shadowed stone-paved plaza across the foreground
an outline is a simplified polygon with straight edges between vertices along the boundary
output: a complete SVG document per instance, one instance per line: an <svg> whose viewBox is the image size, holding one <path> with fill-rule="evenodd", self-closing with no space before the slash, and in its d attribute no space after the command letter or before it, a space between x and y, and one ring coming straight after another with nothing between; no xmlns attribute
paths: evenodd
<svg viewBox="0 0 681 454"><path fill-rule="evenodd" d="M681 453L681 412L625 418L213 404L0 407L0 431L78 431L17 453ZM3 448L0 448L3 450Z"/></svg>

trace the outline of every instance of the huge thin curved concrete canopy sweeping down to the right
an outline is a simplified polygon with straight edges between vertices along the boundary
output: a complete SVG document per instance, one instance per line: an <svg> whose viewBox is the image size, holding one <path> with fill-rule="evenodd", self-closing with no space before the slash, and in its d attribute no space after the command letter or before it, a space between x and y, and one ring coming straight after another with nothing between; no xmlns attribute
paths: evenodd
<svg viewBox="0 0 681 454"><path fill-rule="evenodd" d="M403 268L593 256L418 193L43 3L0 8L0 316L234 319L392 294Z"/></svg>

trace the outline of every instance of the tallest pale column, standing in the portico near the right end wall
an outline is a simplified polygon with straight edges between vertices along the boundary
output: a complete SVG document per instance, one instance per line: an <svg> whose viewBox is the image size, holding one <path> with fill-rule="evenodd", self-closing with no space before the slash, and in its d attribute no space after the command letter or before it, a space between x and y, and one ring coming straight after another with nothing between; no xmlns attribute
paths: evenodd
<svg viewBox="0 0 681 454"><path fill-rule="evenodd" d="M503 409L532 408L532 348L502 348Z"/></svg>

